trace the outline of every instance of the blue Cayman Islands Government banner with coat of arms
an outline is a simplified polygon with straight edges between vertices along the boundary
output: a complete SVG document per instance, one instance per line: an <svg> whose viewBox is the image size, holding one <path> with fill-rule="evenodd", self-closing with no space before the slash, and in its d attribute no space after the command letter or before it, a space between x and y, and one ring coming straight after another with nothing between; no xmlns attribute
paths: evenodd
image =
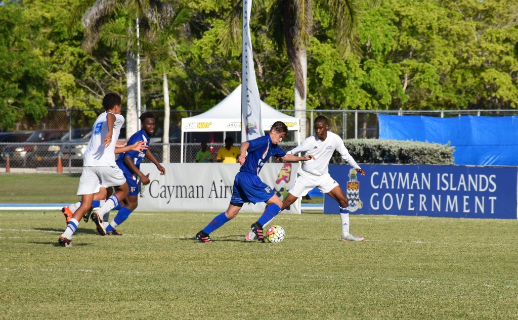
<svg viewBox="0 0 518 320"><path fill-rule="evenodd" d="M517 219L517 167L347 165L329 173L349 199L350 213ZM324 197L324 213L339 213Z"/></svg>

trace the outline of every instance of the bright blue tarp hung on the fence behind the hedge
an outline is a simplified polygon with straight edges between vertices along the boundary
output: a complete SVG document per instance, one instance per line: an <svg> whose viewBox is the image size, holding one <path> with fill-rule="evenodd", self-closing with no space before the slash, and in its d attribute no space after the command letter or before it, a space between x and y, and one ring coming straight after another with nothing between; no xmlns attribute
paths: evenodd
<svg viewBox="0 0 518 320"><path fill-rule="evenodd" d="M456 118L379 114L380 139L413 140L455 147L455 164L518 166L518 117Z"/></svg>

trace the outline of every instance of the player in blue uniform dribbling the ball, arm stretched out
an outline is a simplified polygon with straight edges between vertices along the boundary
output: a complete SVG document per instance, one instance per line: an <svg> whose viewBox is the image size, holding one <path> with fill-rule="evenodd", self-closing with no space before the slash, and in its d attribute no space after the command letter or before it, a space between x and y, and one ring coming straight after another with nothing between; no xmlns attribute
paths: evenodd
<svg viewBox="0 0 518 320"><path fill-rule="evenodd" d="M209 234L233 219L239 213L244 202L266 202L269 206L259 220L251 226L257 240L264 242L263 224L273 219L281 211L282 201L272 188L261 181L259 172L271 156L290 162L315 158L313 155L299 157L286 154L277 143L282 141L287 132L288 128L284 122L277 121L271 126L268 135L241 143L241 154L238 157L241 168L234 179L230 205L225 212L214 217L203 230L196 234L198 241L211 242Z"/></svg>

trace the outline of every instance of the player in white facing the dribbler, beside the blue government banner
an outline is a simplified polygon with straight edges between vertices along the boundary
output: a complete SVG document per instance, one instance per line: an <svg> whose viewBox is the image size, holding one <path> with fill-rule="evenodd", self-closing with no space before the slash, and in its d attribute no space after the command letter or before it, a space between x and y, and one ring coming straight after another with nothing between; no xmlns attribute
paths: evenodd
<svg viewBox="0 0 518 320"><path fill-rule="evenodd" d="M343 193L340 185L331 178L328 172L329 160L335 150L337 150L342 158L347 161L356 172L365 176L365 171L358 166L353 157L349 154L346 146L343 145L342 138L328 131L329 124L327 123L326 117L323 115L316 117L314 120L314 129L314 135L308 137L298 147L295 147L295 149L287 152L288 154L297 154L299 152L304 153L304 155L311 154L314 156L314 159L303 162L297 174L297 180L290 188L287 197L282 201L281 210L290 207L297 198L304 197L314 187L318 187L320 192L327 193L338 201L340 206L340 219L342 222L342 240L364 241L364 237L358 237L349 233L349 200ZM268 223L266 223L265 226ZM254 238L254 232L250 231L246 239L252 241Z"/></svg>

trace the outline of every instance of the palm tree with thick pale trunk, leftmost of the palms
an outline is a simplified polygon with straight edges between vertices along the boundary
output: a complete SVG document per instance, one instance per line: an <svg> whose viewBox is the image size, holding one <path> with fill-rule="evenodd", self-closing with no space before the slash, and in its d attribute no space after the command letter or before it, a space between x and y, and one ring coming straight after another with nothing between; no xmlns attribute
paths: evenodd
<svg viewBox="0 0 518 320"><path fill-rule="evenodd" d="M82 22L85 37L83 49L91 52L104 35L105 40L117 35L119 47L126 49L126 135L130 136L138 130L136 101L136 21L139 23L140 36L146 38L153 25L161 16L173 12L172 4L156 0L85 0L72 15L71 23L79 19ZM82 14L84 12L84 15ZM82 18L80 18L82 15ZM122 30L121 30L122 28ZM124 42L123 44L121 44ZM115 42L111 43L112 45Z"/></svg>

